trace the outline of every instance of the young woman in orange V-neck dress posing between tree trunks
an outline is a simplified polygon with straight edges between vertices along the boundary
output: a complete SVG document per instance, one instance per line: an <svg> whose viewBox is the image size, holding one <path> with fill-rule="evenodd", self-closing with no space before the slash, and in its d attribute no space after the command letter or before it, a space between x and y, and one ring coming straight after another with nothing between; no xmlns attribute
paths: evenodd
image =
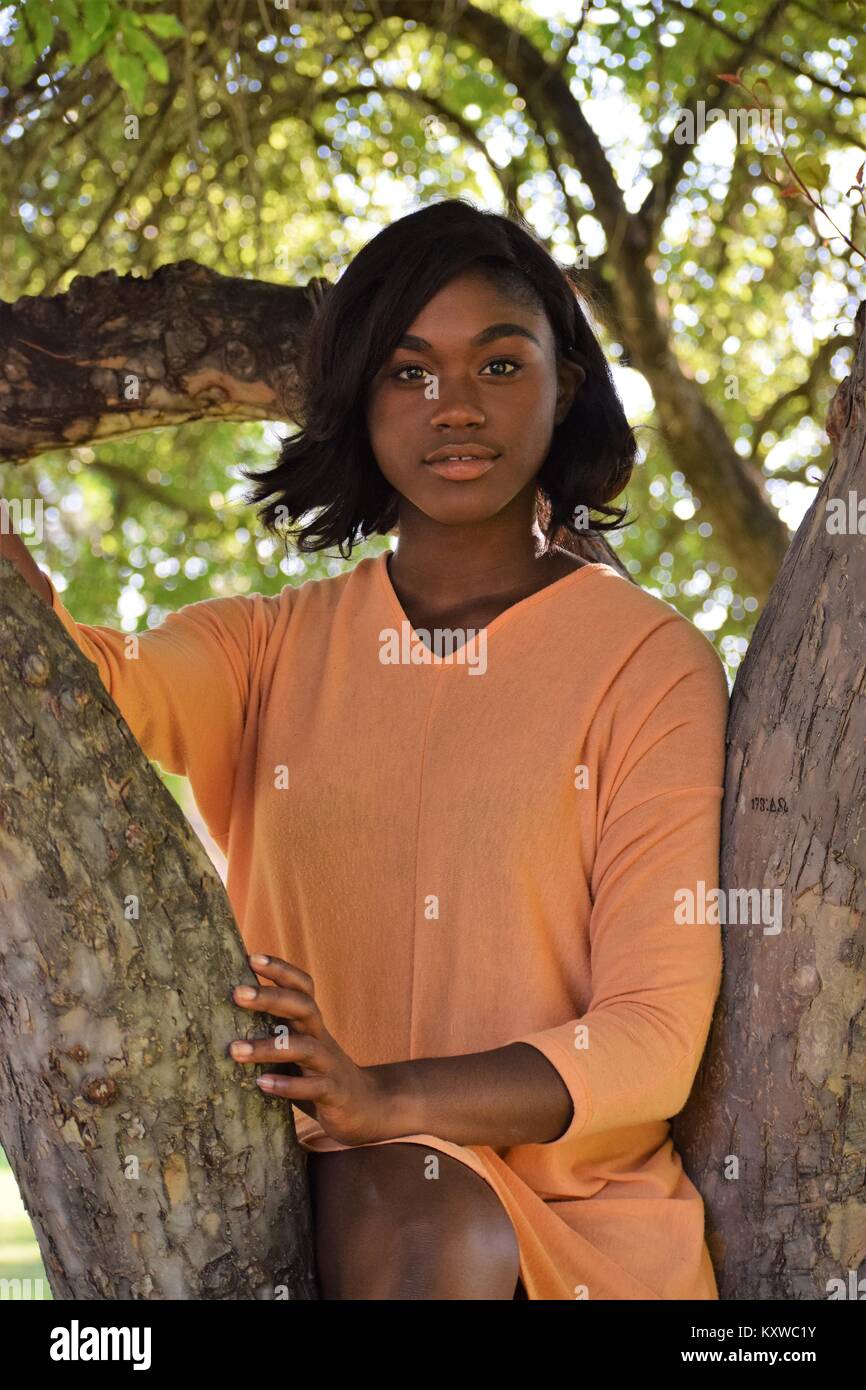
<svg viewBox="0 0 866 1390"><path fill-rule="evenodd" d="M518 222L435 203L329 291L303 386L252 500L302 550L396 549L188 605L138 662L50 598L228 855L235 997L288 1023L232 1055L295 1106L322 1294L717 1298L669 1120L720 983L688 903L727 682L562 548L621 524L635 460L575 291Z"/></svg>

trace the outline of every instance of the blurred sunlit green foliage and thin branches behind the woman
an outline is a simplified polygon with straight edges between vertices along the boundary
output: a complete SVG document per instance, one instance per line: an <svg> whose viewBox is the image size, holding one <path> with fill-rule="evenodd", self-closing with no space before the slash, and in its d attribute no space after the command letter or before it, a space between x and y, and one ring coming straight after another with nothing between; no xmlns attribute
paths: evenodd
<svg viewBox="0 0 866 1390"><path fill-rule="evenodd" d="M425 200L518 210L582 271L644 427L613 543L735 670L851 363L860 6L28 0L0 33L7 300L182 259L335 281ZM749 108L774 122L745 133ZM44 498L35 555L75 616L132 630L345 567L284 555L242 502L281 432L95 438L3 466L3 493Z"/></svg>

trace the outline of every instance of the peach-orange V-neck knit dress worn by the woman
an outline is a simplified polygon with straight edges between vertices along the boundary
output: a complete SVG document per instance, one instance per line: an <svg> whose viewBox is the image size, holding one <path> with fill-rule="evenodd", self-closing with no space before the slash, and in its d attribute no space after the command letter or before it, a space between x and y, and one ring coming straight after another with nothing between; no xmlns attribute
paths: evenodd
<svg viewBox="0 0 866 1390"><path fill-rule="evenodd" d="M386 557L190 603L135 660L56 589L54 612L147 756L189 777L246 948L310 972L359 1065L523 1041L556 1068L574 1111L550 1143L384 1141L493 1187L527 1295L714 1300L669 1119L721 979L720 927L701 922L721 663L606 564L506 609L461 662L413 641ZM410 660L385 659L389 634ZM307 1150L345 1147L293 1115Z"/></svg>

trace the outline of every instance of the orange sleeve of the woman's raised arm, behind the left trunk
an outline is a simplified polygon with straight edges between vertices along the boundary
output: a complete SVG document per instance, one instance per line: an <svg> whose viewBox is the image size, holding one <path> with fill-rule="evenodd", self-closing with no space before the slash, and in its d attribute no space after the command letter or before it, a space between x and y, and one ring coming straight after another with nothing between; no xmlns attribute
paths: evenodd
<svg viewBox="0 0 866 1390"><path fill-rule="evenodd" d="M44 573L44 571L43 571ZM143 632L76 623L50 578L51 607L147 758L183 774L217 841L228 834L252 682L278 598L203 599Z"/></svg>

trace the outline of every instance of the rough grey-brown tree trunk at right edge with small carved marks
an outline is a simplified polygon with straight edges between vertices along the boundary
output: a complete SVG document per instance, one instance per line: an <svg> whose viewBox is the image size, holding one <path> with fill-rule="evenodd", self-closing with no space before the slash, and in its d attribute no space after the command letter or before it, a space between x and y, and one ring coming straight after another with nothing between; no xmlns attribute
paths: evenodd
<svg viewBox="0 0 866 1390"><path fill-rule="evenodd" d="M827 420L833 467L731 701L726 901L781 890L783 913L777 934L769 915L724 929L720 1002L674 1125L721 1298L866 1293L866 514L859 532L827 530L831 499L866 499L863 307Z"/></svg>

